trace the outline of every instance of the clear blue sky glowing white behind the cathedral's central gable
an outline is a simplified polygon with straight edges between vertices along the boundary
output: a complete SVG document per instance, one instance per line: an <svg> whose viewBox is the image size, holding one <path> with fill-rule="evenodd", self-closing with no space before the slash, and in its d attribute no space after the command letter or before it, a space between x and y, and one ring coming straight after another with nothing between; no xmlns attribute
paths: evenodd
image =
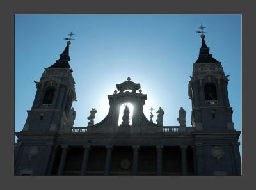
<svg viewBox="0 0 256 190"><path fill-rule="evenodd" d="M107 95L131 77L141 84L151 105L164 110L164 125L178 126L182 106L191 126L189 76L198 58L203 24L205 42L212 56L230 75L228 95L233 122L241 130L241 15L16 15L15 16L15 131L22 131L27 112L44 68L59 59L67 34L76 35L70 45L70 67L76 81L74 127L87 126L96 107L95 123L108 114ZM157 115L154 115L156 123Z"/></svg>

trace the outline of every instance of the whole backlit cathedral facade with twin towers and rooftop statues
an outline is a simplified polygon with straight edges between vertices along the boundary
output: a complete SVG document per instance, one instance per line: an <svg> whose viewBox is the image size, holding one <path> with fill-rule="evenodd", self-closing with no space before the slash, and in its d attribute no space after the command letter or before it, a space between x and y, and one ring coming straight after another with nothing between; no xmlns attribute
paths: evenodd
<svg viewBox="0 0 256 190"><path fill-rule="evenodd" d="M60 59L35 81L33 105L23 130L15 133L15 175L241 175L228 75L201 38L188 85L189 127L182 107L179 126L163 125L161 107L157 124L148 120L147 95L130 78L108 95L109 112L101 122L94 123L92 109L87 127L73 127L76 91L68 41Z"/></svg>

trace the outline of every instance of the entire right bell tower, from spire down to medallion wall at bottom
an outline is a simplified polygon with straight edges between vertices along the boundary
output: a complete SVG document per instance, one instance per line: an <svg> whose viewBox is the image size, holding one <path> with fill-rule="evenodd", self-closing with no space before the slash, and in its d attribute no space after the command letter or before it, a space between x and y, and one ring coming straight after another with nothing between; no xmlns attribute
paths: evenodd
<svg viewBox="0 0 256 190"><path fill-rule="evenodd" d="M195 127L196 175L241 175L240 131L234 129L228 100L228 76L212 58L201 35L199 58L189 81L191 125Z"/></svg>

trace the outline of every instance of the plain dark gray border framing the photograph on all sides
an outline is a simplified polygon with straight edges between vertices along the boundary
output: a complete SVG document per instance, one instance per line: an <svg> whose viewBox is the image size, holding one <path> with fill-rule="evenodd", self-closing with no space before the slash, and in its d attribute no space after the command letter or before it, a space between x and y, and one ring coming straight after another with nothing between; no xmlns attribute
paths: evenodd
<svg viewBox="0 0 256 190"><path fill-rule="evenodd" d="M248 1L249 2L249 1ZM7 2L6 2L7 3ZM255 54L255 4L246 1L9 1L1 4L1 45L2 66L1 100L1 186L8 189L75 189L94 187L93 189L241 189L249 187L254 178L255 153L252 136L255 127L252 125L255 90L253 85L253 68ZM222 13L242 14L242 131L243 162L242 177L15 177L13 165L14 144L14 14L15 13ZM3 16L4 15L4 16ZM221 28L220 28L221 29ZM26 45L26 44L24 44ZM251 83L250 83L251 82ZM251 125L250 125L251 124ZM184 181L185 180L185 181Z"/></svg>

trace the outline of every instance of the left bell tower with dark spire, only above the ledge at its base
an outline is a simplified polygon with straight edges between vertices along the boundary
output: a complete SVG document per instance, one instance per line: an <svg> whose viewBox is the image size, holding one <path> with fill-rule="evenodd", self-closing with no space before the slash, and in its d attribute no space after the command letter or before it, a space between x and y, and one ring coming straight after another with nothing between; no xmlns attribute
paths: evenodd
<svg viewBox="0 0 256 190"><path fill-rule="evenodd" d="M28 111L23 131L58 132L66 127L67 116L71 111L72 102L76 99L68 52L69 43L60 54L60 59L51 67L45 68L39 82L35 81L35 100Z"/></svg>

